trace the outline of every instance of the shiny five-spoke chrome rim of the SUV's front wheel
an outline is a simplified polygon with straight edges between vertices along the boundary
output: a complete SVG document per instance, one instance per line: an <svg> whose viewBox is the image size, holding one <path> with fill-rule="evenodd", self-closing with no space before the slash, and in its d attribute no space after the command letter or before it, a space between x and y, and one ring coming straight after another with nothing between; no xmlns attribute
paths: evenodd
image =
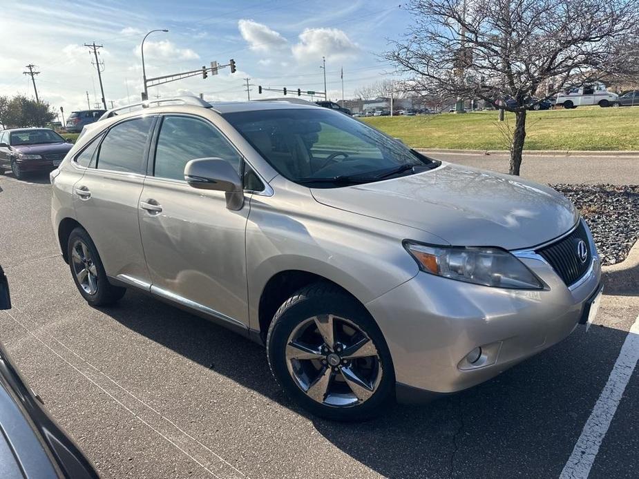
<svg viewBox="0 0 639 479"><path fill-rule="evenodd" d="M379 352L353 322L317 315L289 335L286 364L298 387L316 402L348 407L368 400L383 375Z"/></svg>

